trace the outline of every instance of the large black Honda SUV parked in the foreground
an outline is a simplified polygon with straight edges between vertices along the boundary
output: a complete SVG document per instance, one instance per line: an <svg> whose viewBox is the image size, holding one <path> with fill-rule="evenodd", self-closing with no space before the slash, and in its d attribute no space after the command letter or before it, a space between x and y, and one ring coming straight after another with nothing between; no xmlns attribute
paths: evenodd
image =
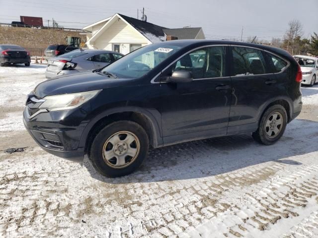
<svg viewBox="0 0 318 238"><path fill-rule="evenodd" d="M49 153L78 162L87 153L100 174L117 177L136 170L150 146L250 132L275 143L301 112L301 82L281 49L167 41L40 83L24 123Z"/></svg>

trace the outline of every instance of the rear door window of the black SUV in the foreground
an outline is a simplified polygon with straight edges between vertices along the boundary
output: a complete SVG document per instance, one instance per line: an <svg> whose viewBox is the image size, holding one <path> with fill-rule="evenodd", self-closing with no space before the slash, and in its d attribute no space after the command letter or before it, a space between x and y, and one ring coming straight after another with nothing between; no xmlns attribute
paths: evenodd
<svg viewBox="0 0 318 238"><path fill-rule="evenodd" d="M232 47L231 76L269 73L260 50L247 47Z"/></svg>

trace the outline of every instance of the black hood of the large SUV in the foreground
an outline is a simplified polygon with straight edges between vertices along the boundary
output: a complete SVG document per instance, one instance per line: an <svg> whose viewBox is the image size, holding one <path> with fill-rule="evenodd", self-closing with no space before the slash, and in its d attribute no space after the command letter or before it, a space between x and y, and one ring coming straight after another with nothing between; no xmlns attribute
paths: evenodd
<svg viewBox="0 0 318 238"><path fill-rule="evenodd" d="M79 93L98 89L120 87L131 79L114 79L103 73L91 71L55 77L46 80L36 86L34 95L43 98L50 95Z"/></svg>

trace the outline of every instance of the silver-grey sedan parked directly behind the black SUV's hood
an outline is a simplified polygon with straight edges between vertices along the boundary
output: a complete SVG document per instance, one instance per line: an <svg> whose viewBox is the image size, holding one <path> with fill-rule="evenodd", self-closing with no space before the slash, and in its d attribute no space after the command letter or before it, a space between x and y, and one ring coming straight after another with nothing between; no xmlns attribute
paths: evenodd
<svg viewBox="0 0 318 238"><path fill-rule="evenodd" d="M48 60L46 78L78 73L105 67L123 57L122 54L104 50L75 50Z"/></svg>

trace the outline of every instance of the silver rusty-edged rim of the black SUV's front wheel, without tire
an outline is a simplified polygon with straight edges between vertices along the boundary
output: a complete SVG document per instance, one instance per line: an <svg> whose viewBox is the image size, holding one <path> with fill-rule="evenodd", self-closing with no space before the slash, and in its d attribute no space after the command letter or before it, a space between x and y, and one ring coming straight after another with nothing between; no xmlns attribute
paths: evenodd
<svg viewBox="0 0 318 238"><path fill-rule="evenodd" d="M132 164L139 155L140 141L130 131L118 131L104 143L104 162L115 169L122 169Z"/></svg>

